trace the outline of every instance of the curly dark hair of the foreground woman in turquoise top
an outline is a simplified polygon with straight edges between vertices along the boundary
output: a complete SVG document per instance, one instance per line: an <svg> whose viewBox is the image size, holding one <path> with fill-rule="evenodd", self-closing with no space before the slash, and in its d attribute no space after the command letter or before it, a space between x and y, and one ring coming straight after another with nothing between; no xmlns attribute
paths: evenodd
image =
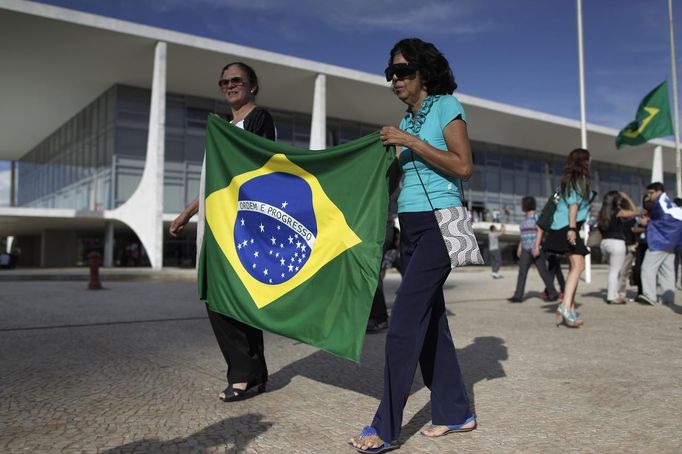
<svg viewBox="0 0 682 454"><path fill-rule="evenodd" d="M419 69L419 77L429 95L451 95L457 88L448 60L433 44L419 38L400 40L391 49L389 65L396 54L401 54Z"/></svg>

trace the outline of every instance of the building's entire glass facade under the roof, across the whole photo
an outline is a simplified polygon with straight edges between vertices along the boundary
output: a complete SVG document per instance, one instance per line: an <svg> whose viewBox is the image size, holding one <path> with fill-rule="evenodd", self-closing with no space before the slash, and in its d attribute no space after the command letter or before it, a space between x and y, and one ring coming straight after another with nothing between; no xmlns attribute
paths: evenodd
<svg viewBox="0 0 682 454"><path fill-rule="evenodd" d="M142 177L147 148L150 90L114 85L17 162L17 205L79 210L123 204ZM227 103L189 95L166 97L164 212L179 213L199 193L209 113L226 114ZM271 109L278 141L307 148L311 116ZM327 145L374 132L379 125L327 119ZM558 184L565 157L472 142L476 171L464 184L475 221L516 223L521 199L538 207ZM593 162L593 188L628 192L641 201L650 171ZM669 193L675 176L665 174ZM119 237L117 234L117 242ZM126 242L131 241L126 239ZM193 238L166 238L166 265L193 265Z"/></svg>

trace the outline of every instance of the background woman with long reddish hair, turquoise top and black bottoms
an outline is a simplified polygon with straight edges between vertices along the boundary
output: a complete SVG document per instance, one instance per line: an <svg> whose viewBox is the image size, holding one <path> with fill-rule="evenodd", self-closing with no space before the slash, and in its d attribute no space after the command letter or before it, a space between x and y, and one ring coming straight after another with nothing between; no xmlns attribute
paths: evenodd
<svg viewBox="0 0 682 454"><path fill-rule="evenodd" d="M557 325L563 323L569 328L579 328L583 324L583 320L575 312L575 292L580 274L585 270L585 256L590 251L578 233L587 219L592 201L591 182L590 153L583 148L576 148L566 159L559 189L561 198L542 245L545 252L568 255L570 268L566 276L564 299L557 308L556 320ZM536 250L540 249L542 237L542 229L538 228Z"/></svg>

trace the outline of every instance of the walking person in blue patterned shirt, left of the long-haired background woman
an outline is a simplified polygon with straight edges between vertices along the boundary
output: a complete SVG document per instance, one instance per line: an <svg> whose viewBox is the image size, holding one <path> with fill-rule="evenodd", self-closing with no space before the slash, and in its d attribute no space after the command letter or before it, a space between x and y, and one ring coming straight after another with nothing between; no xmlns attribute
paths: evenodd
<svg viewBox="0 0 682 454"><path fill-rule="evenodd" d="M507 298L507 301L510 303L520 303L523 301L526 278L528 277L528 269L531 265L535 265L545 283L545 289L547 289L548 293L547 299L549 301L559 299L559 295L557 295L554 288L554 276L550 275L549 270L547 270L545 254L541 249L535 249L535 237L537 236L535 208L535 197L526 196L521 200L521 209L526 213L526 218L519 223L521 239L516 249L516 256L519 258L519 274L516 278L516 291L511 298Z"/></svg>

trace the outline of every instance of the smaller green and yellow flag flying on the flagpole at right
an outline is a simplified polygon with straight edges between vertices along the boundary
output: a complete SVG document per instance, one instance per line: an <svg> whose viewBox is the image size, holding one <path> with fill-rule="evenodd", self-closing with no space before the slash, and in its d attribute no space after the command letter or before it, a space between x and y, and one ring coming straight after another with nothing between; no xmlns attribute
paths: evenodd
<svg viewBox="0 0 682 454"><path fill-rule="evenodd" d="M668 82L663 82L644 97L637 109L635 121L628 124L616 137L616 148L640 145L656 137L673 134L668 104Z"/></svg>

